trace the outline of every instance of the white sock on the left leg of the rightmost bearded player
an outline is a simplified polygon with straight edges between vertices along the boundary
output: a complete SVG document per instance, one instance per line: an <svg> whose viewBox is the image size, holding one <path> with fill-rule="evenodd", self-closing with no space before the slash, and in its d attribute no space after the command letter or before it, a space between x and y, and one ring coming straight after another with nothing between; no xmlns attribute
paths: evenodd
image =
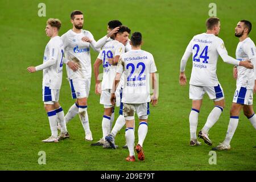
<svg viewBox="0 0 256 182"><path fill-rule="evenodd" d="M223 144L225 144L225 146L229 146L233 135L237 129L237 125L238 125L238 120L239 117L238 116L231 116L229 119L229 126L228 126L228 131L226 132L226 138L223 142Z"/></svg>

